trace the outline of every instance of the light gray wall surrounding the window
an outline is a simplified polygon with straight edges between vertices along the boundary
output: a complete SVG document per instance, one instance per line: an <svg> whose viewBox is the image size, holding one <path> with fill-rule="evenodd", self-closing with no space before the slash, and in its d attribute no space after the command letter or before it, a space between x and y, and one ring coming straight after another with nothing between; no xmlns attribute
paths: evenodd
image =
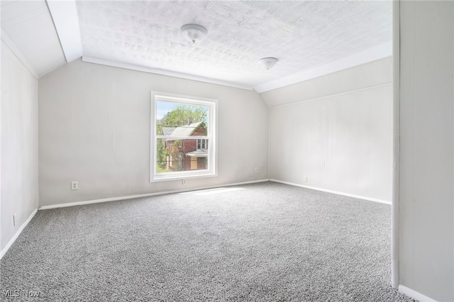
<svg viewBox="0 0 454 302"><path fill-rule="evenodd" d="M218 99L218 177L149 182L150 91ZM254 91L77 60L40 78L39 99L40 206L268 179Z"/></svg>

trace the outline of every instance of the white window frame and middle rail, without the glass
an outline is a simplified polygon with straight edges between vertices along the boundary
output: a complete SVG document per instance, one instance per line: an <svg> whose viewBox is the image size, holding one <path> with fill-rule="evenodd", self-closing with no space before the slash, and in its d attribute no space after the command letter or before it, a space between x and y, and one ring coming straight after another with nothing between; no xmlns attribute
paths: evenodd
<svg viewBox="0 0 454 302"><path fill-rule="evenodd" d="M157 160L157 139L165 138L165 135L156 135L156 116L157 101L175 102L178 104L208 106L208 129L206 136L197 136L194 139L205 139L208 141L207 169L189 170L180 172L156 172ZM198 96L184 96L181 94L170 94L167 92L151 91L151 127L150 127L150 182L170 181L179 179L199 178L199 177L217 177L218 176L218 148L217 148L217 118L218 118L218 100L206 99ZM175 137L172 137L175 138ZM175 138L177 140L187 140L188 137Z"/></svg>

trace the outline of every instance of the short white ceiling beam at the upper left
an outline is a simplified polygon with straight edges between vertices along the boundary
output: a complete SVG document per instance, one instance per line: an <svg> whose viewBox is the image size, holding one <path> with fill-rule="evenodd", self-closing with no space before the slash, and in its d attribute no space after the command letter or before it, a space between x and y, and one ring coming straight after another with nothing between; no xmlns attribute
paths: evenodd
<svg viewBox="0 0 454 302"><path fill-rule="evenodd" d="M46 0L50 16L57 30L66 62L82 57L82 40L80 38L79 16L76 1Z"/></svg>

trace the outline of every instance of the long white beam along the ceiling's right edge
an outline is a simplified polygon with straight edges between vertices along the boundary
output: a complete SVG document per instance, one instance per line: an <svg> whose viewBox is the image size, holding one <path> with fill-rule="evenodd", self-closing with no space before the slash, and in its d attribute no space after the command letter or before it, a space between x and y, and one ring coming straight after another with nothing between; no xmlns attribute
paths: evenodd
<svg viewBox="0 0 454 302"><path fill-rule="evenodd" d="M316 77L321 77L326 74L331 74L333 72L338 72L344 69L351 67L359 66L368 62L373 62L376 60L383 59L384 57L392 56L392 41L372 47L368 50L362 52L357 52L354 55L344 57L341 60L336 60L329 62L327 64L321 65L319 67L314 67L311 69L306 69L295 74L290 74L287 77L282 77L280 79L275 79L270 82L265 82L254 86L254 90L259 94L282 88L284 86L289 86L299 82L304 82L309 79L314 79Z"/></svg>

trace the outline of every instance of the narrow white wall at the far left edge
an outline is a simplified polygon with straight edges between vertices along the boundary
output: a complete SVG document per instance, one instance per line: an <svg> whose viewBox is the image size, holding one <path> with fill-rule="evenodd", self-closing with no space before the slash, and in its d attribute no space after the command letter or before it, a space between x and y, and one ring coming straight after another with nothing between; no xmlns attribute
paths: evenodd
<svg viewBox="0 0 454 302"><path fill-rule="evenodd" d="M3 41L0 207L0 250L4 250L38 208L38 80Z"/></svg>

